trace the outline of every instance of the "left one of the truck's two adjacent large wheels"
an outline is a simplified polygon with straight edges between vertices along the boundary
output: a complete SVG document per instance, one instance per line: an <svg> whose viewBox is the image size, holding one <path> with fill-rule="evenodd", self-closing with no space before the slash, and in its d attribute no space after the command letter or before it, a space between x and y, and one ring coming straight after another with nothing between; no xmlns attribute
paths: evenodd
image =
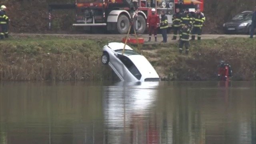
<svg viewBox="0 0 256 144"><path fill-rule="evenodd" d="M126 15L120 15L117 24L116 24L117 30L119 34L127 34L129 27L130 27L130 20Z"/></svg>

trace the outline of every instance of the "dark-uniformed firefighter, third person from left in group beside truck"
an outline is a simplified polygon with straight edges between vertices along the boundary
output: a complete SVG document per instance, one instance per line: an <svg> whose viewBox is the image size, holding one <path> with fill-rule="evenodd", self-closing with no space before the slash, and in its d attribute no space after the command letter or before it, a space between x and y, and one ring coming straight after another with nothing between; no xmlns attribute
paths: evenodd
<svg viewBox="0 0 256 144"><path fill-rule="evenodd" d="M181 22L180 8L176 8L176 13L172 16L172 22L173 22L172 40L176 40L177 34L180 31L180 22Z"/></svg>

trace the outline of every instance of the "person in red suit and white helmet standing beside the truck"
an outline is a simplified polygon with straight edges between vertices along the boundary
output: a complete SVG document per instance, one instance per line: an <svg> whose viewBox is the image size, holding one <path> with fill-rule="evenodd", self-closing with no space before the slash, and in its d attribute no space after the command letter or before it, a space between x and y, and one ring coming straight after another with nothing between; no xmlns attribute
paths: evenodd
<svg viewBox="0 0 256 144"><path fill-rule="evenodd" d="M149 38L148 41L151 40L151 35L154 34L155 36L155 42L156 40L156 36L157 36L157 28L159 26L159 16L158 14L155 14L156 9L152 8L151 10L152 15L148 16L147 19L147 27L148 27L148 32L149 32Z"/></svg>

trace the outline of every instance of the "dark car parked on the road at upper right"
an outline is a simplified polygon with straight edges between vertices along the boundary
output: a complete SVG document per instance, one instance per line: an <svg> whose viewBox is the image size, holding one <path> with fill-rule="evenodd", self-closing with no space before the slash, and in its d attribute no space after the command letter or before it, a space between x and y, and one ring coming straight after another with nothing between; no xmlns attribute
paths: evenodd
<svg viewBox="0 0 256 144"><path fill-rule="evenodd" d="M230 22L223 24L225 34L248 34L252 24L252 11L244 11L236 15Z"/></svg>

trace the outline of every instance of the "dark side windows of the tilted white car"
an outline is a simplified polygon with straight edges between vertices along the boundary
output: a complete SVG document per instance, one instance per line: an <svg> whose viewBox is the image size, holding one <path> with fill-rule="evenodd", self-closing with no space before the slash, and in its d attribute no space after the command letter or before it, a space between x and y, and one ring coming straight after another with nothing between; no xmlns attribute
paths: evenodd
<svg viewBox="0 0 256 144"><path fill-rule="evenodd" d="M124 56L122 54L118 54L118 58L126 66L126 68L128 68L128 70L132 73L132 75L134 75L138 80L140 80L141 74L140 74L138 68L130 60L130 58L128 58L127 56Z"/></svg>

